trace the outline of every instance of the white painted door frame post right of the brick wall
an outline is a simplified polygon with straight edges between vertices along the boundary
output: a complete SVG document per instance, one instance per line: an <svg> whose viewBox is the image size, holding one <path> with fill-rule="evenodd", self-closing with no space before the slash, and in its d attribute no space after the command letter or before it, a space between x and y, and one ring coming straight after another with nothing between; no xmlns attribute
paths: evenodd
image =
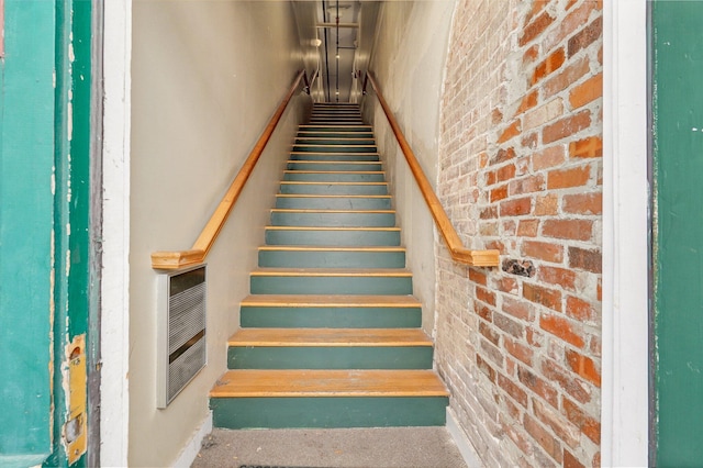
<svg viewBox="0 0 703 468"><path fill-rule="evenodd" d="M603 466L648 465L647 2L603 3Z"/></svg>

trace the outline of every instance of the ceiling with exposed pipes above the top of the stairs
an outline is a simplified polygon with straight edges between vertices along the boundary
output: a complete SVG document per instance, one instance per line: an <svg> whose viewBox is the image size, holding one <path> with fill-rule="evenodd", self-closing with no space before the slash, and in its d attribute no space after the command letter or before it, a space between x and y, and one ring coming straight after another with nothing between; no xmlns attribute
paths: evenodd
<svg viewBox="0 0 703 468"><path fill-rule="evenodd" d="M380 1L292 0L315 101L358 100L373 47Z"/></svg>

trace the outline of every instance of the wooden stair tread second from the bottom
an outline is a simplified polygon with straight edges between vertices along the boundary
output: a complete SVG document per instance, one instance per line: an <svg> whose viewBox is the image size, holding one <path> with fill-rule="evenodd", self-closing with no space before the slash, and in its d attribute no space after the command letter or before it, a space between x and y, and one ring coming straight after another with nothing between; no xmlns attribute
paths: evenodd
<svg viewBox="0 0 703 468"><path fill-rule="evenodd" d="M228 346L432 346L421 328L241 328Z"/></svg>

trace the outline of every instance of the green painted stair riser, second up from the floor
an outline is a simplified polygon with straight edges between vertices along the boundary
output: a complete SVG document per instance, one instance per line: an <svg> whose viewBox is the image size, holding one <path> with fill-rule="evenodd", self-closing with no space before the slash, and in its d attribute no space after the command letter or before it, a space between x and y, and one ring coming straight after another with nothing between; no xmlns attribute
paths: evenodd
<svg viewBox="0 0 703 468"><path fill-rule="evenodd" d="M230 369L432 369L429 346L230 346Z"/></svg>

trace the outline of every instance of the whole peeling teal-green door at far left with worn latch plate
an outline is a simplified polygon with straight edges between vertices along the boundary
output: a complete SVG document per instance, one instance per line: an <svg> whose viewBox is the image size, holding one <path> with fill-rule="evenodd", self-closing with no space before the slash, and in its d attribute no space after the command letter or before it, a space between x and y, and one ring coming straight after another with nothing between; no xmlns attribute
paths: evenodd
<svg viewBox="0 0 703 468"><path fill-rule="evenodd" d="M87 404L82 369L90 379L97 364L98 326L89 319L97 278L89 234L92 8L81 0L4 1L2 467L85 466L81 441L99 434L98 427L88 434L87 424L66 425L71 412L88 421L88 410L76 401ZM67 439L77 441L75 456L67 455Z"/></svg>

